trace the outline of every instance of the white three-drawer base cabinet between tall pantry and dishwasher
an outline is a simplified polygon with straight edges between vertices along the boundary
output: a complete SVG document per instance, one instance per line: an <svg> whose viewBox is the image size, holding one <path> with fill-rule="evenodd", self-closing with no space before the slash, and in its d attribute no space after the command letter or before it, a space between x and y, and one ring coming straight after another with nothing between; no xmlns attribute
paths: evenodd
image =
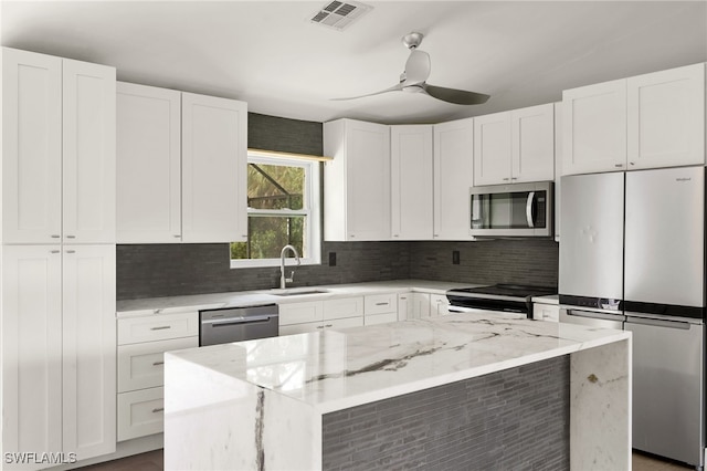
<svg viewBox="0 0 707 471"><path fill-rule="evenodd" d="M165 352L199 346L199 313L117 321L118 441L163 430Z"/></svg>

